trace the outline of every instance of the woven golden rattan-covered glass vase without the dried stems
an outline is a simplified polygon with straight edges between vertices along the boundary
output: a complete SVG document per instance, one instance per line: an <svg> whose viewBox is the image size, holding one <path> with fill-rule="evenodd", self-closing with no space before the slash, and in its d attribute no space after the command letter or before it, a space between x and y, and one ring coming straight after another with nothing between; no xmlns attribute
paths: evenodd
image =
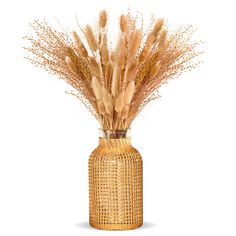
<svg viewBox="0 0 236 236"><path fill-rule="evenodd" d="M88 166L90 225L107 230L141 226L142 158L131 145L129 130L101 130Z"/></svg>

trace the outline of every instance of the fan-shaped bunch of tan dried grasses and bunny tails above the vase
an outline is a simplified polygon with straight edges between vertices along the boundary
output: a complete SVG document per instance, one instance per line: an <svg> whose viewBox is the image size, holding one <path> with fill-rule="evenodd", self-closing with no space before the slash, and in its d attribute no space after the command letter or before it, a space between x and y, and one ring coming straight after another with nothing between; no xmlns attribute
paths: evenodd
<svg viewBox="0 0 236 236"><path fill-rule="evenodd" d="M115 48L107 42L108 15L99 14L98 27L86 25L71 35L35 20L35 36L26 36L27 59L69 83L104 129L129 128L133 119L170 79L195 68L199 42L192 43L192 26L169 32L163 19L153 19L147 31L137 17L121 15Z"/></svg>

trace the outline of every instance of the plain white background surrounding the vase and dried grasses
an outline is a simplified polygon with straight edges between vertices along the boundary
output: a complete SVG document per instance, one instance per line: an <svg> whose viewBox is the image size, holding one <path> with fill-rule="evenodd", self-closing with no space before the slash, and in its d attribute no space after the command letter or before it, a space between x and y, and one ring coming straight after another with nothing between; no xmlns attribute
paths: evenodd
<svg viewBox="0 0 236 236"><path fill-rule="evenodd" d="M0 3L0 235L236 235L234 1L2 1ZM131 7L190 23L204 63L171 81L132 125L144 162L144 226L88 225L87 161L98 123L68 86L23 59L34 18L66 26L113 20ZM113 23L112 23L113 24ZM69 25L69 26L70 26Z"/></svg>

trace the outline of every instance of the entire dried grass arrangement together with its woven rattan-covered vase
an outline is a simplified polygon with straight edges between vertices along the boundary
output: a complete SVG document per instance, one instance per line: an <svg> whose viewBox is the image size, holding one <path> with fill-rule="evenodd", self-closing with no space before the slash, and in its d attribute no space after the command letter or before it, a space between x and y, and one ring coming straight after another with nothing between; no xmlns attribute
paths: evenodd
<svg viewBox="0 0 236 236"><path fill-rule="evenodd" d="M36 66L73 87L100 122L103 135L89 157L89 222L99 229L134 229L143 224L142 157L127 134L134 118L158 98L163 83L194 68L200 42L191 42L192 26L169 31L164 19L143 21L129 12L119 19L115 47L108 42L108 16L101 11L97 29L90 25L68 33L46 21L26 36ZM82 34L81 34L82 33Z"/></svg>

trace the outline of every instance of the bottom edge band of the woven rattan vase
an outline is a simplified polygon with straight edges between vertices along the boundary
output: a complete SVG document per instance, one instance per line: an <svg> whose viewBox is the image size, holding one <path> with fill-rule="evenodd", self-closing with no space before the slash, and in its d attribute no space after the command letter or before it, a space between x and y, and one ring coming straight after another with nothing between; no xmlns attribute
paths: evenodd
<svg viewBox="0 0 236 236"><path fill-rule="evenodd" d="M138 224L96 224L89 222L90 226L96 229L101 230L132 230L139 228L143 225L143 223Z"/></svg>

